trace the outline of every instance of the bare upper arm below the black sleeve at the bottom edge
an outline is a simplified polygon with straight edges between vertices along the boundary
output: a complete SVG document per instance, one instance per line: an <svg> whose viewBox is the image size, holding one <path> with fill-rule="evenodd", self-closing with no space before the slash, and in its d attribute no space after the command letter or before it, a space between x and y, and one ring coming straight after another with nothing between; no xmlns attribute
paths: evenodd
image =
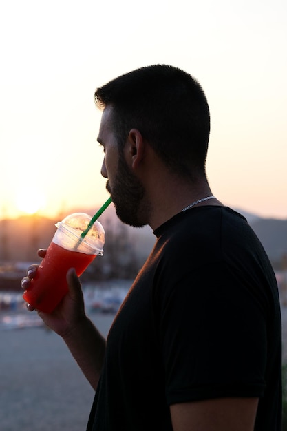
<svg viewBox="0 0 287 431"><path fill-rule="evenodd" d="M218 398L170 407L174 431L253 431L257 398Z"/></svg>

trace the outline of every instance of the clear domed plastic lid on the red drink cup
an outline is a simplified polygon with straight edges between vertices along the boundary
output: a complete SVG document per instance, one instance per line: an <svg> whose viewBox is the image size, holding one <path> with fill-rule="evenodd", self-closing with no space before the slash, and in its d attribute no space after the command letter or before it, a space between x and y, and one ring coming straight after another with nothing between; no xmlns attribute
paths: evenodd
<svg viewBox="0 0 287 431"><path fill-rule="evenodd" d="M56 223L58 229L54 235L54 242L59 244L65 241L65 245L59 244L65 249L103 255L105 231L98 220L94 222L85 238L81 238L81 233L87 229L91 219L92 217L85 213L67 215L61 222Z"/></svg>

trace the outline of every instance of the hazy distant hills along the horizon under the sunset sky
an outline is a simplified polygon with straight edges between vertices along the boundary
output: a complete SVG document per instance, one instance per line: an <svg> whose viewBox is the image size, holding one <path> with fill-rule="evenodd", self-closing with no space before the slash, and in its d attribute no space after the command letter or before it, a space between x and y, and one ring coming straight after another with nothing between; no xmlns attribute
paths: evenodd
<svg viewBox="0 0 287 431"><path fill-rule="evenodd" d="M96 213L97 209L74 209L73 212L84 212L90 215ZM253 227L255 233L264 245L270 260L278 264L281 257L287 255L287 220L260 218L258 215L242 213ZM65 217L63 214L61 217ZM111 204L98 219L106 231L106 244L113 236L113 232L119 232L131 242L134 252L140 262L151 251L156 240L150 227L134 228L128 227L116 216L114 205ZM24 216L16 220L0 220L0 260L32 261L37 262L39 258L36 250L50 244L55 223L59 220L50 220L39 216ZM104 247L105 249L105 247Z"/></svg>

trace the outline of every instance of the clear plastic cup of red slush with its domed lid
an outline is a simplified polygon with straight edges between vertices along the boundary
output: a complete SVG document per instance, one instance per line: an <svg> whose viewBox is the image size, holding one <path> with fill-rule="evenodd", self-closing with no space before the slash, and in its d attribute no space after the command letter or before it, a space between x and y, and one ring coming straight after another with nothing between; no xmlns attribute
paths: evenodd
<svg viewBox="0 0 287 431"><path fill-rule="evenodd" d="M96 220L85 238L81 238L91 219L85 213L74 213L56 223L56 233L36 277L23 293L33 308L51 313L68 291L67 270L74 268L80 276L96 255L103 255L105 231L100 222Z"/></svg>

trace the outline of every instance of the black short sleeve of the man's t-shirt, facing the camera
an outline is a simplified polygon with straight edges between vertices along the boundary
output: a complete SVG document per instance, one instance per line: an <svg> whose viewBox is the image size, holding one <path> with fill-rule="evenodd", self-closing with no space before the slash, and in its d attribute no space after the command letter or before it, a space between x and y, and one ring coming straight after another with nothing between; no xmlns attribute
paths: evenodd
<svg viewBox="0 0 287 431"><path fill-rule="evenodd" d="M184 275L164 295L167 402L262 396L266 313L244 282L217 262Z"/></svg>

